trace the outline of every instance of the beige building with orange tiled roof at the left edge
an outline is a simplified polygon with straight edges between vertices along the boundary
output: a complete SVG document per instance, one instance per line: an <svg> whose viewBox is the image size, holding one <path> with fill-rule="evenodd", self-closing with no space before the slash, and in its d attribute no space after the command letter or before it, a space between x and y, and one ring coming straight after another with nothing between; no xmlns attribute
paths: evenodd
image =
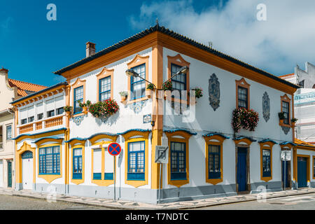
<svg viewBox="0 0 315 224"><path fill-rule="evenodd" d="M15 126L14 111L10 102L43 90L35 85L8 78L8 70L0 69L0 188L12 188L14 183Z"/></svg>

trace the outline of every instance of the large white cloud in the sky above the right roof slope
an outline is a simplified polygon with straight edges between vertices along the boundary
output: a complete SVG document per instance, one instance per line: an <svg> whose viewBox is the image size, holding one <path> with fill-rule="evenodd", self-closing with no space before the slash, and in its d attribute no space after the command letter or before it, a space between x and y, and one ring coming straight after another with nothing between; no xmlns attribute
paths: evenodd
<svg viewBox="0 0 315 224"><path fill-rule="evenodd" d="M256 18L259 3L267 6L267 21ZM160 25L281 75L296 64L315 64L314 8L314 0L229 0L197 12L192 0L162 1L144 3L130 23L145 29L158 18Z"/></svg>

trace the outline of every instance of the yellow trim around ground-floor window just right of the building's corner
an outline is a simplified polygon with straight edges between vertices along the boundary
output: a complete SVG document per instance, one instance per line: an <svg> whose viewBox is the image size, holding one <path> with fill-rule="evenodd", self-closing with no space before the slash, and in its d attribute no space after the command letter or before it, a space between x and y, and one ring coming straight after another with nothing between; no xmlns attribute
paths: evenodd
<svg viewBox="0 0 315 224"><path fill-rule="evenodd" d="M183 131L177 131L177 132L165 132L168 141L169 141L169 163L167 164L167 184L176 186L177 188L180 188L181 186L189 183L189 139L191 137L191 134L188 134L187 132ZM183 137L184 139L176 138L176 136ZM175 142L183 142L186 143L186 180L171 180L171 141Z"/></svg>

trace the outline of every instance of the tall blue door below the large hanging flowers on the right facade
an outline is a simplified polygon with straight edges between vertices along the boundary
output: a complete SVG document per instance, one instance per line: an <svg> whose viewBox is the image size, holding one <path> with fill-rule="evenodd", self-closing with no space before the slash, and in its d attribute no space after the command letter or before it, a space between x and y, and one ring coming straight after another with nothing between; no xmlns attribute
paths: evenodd
<svg viewBox="0 0 315 224"><path fill-rule="evenodd" d="M237 150L237 183L238 191L246 191L247 171L246 171L247 148Z"/></svg>

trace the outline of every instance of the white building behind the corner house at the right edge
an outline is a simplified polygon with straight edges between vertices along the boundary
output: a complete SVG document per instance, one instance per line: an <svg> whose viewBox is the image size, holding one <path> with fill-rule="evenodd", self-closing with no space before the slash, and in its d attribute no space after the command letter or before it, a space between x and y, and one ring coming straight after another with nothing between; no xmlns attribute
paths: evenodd
<svg viewBox="0 0 315 224"><path fill-rule="evenodd" d="M300 85L294 95L294 114L298 119L295 136L309 144L315 144L315 66L306 62L305 71L296 66L294 73L279 77Z"/></svg>

